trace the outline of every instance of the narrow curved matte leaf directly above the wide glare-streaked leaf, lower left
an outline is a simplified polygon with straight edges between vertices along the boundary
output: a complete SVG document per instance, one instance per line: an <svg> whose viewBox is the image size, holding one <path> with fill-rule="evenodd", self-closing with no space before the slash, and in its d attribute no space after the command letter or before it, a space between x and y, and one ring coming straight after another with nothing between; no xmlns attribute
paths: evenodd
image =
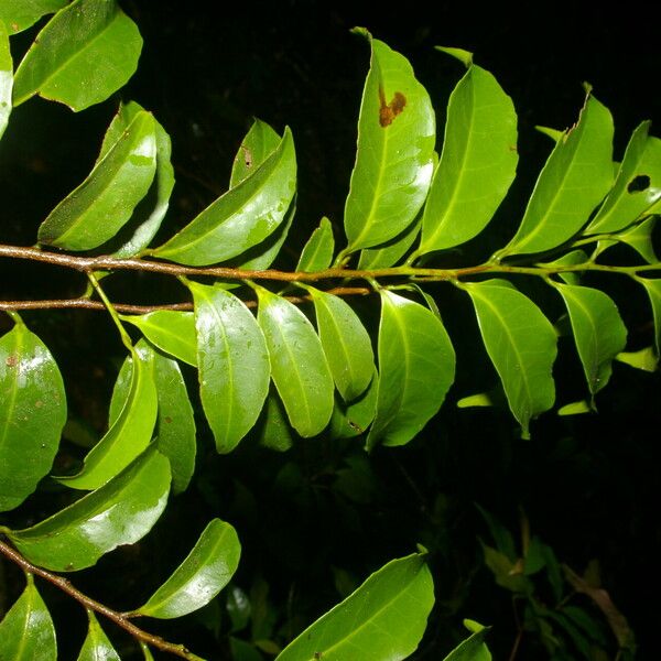
<svg viewBox="0 0 661 661"><path fill-rule="evenodd" d="M76 475L55 479L73 489L96 489L126 468L150 443L158 413L154 383L154 353L142 343L127 358L123 370L131 369L127 398L115 397L110 405L109 430L87 453L83 468ZM120 372L118 381L122 380ZM120 405L119 404L123 404Z"/></svg>

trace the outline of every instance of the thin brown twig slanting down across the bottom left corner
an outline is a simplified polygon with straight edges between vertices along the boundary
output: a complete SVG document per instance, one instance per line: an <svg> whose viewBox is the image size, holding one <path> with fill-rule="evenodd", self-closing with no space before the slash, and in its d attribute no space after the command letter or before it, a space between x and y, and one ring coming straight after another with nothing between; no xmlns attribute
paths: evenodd
<svg viewBox="0 0 661 661"><path fill-rule="evenodd" d="M133 622L129 621L127 616L118 613L117 610L112 610L105 606L104 604L99 604L91 597L83 594L80 590L76 589L68 578L64 576L58 576L57 574L52 574L51 572L37 567L33 565L31 562L25 560L15 549L12 549L9 544L0 541L0 553L2 553L6 557L11 560L13 563L18 564L23 571L29 574L34 574L35 576L40 576L44 578L48 583L53 584L55 587L59 588L62 592L66 593L69 597L82 604L85 608L89 608L99 615L108 618L110 621L115 622L118 627L122 628L124 631L130 633L137 640L151 644L156 649L163 652L170 652L175 657L180 657L181 659L188 659L189 661L202 661L201 657L189 652L183 644L176 644L174 642L167 642L163 640L160 636L154 636L153 633L149 633L143 629L137 627Z"/></svg>

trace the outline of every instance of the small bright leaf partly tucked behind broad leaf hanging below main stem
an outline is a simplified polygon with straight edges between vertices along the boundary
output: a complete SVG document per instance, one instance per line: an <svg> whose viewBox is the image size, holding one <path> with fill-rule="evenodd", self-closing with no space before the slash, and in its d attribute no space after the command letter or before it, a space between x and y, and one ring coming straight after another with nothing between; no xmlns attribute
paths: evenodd
<svg viewBox="0 0 661 661"><path fill-rule="evenodd" d="M195 314L176 310L156 310L142 315L120 315L121 319L140 328L149 342L162 351L197 366Z"/></svg>

